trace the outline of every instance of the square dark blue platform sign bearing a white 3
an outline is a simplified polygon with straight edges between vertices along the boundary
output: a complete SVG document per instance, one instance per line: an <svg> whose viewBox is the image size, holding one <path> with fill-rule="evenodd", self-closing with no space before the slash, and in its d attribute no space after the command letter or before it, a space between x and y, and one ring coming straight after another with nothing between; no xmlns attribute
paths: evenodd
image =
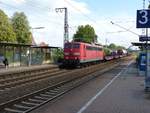
<svg viewBox="0 0 150 113"><path fill-rule="evenodd" d="M137 10L137 28L150 28L150 10Z"/></svg>

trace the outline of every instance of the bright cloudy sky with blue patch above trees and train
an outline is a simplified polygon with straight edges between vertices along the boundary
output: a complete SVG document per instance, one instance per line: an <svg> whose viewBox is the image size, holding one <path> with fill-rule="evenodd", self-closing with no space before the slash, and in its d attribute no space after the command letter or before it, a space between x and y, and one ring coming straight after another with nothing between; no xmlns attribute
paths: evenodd
<svg viewBox="0 0 150 113"><path fill-rule="evenodd" d="M115 43L128 48L131 42L139 41L138 35L123 28L141 35L142 30L136 29L136 11L143 8L143 0L0 0L0 9L8 17L25 13L36 43L55 47L63 47L64 34L64 11L57 13L55 8L64 7L68 9L70 41L77 27L86 24L94 27L103 45Z"/></svg>

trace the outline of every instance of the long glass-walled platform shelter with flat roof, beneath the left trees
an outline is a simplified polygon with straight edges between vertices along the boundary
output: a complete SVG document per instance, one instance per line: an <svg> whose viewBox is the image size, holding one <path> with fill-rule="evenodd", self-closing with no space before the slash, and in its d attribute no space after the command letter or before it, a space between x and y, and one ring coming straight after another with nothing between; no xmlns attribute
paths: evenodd
<svg viewBox="0 0 150 113"><path fill-rule="evenodd" d="M7 58L10 67L48 64L53 63L53 50L58 48L0 42L0 58Z"/></svg>

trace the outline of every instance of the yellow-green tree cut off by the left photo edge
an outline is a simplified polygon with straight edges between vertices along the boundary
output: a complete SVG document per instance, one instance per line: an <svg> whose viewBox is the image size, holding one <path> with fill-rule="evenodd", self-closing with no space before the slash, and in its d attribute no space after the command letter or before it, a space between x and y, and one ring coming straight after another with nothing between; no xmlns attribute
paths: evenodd
<svg viewBox="0 0 150 113"><path fill-rule="evenodd" d="M0 10L0 41L15 42L16 35L7 15Z"/></svg>

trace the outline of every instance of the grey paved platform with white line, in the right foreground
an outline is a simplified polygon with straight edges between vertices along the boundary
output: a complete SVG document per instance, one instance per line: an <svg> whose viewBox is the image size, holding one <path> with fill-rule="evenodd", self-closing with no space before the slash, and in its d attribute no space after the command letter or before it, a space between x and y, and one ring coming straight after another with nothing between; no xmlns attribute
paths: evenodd
<svg viewBox="0 0 150 113"><path fill-rule="evenodd" d="M150 113L150 93L131 61L31 113Z"/></svg>

